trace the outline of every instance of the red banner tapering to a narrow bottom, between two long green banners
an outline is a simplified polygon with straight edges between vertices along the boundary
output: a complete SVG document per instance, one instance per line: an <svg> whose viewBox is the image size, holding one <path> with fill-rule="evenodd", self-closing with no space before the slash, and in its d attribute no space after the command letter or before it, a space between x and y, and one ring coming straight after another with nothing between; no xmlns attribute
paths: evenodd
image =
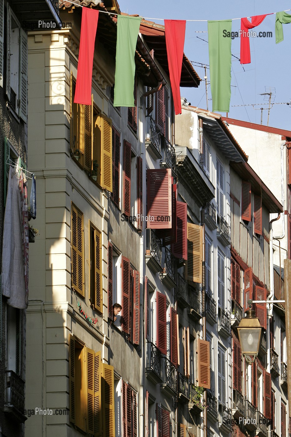
<svg viewBox="0 0 291 437"><path fill-rule="evenodd" d="M181 114L180 78L184 52L186 20L164 20L166 49L175 114Z"/></svg>

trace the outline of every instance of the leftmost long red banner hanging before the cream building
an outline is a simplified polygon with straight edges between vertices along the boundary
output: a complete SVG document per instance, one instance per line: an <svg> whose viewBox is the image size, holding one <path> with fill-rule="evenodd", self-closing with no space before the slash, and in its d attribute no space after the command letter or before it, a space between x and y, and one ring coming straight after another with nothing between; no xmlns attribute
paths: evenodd
<svg viewBox="0 0 291 437"><path fill-rule="evenodd" d="M82 8L81 37L74 103L91 105L92 70L99 10Z"/></svg>

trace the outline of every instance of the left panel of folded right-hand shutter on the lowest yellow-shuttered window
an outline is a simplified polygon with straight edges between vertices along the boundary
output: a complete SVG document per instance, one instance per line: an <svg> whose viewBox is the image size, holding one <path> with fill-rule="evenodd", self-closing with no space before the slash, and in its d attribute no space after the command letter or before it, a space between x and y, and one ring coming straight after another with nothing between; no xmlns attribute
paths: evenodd
<svg viewBox="0 0 291 437"><path fill-rule="evenodd" d="M94 368L95 368L95 352L89 347L86 347L85 355L85 411L86 411L86 432L94 434Z"/></svg>

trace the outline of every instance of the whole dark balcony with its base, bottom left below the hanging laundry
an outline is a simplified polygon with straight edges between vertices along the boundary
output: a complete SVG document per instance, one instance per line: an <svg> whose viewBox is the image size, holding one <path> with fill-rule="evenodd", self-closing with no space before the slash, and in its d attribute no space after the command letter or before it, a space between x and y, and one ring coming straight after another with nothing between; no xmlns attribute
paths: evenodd
<svg viewBox="0 0 291 437"><path fill-rule="evenodd" d="M5 371L5 404L4 412L11 416L11 420L24 423L25 382L12 370Z"/></svg>

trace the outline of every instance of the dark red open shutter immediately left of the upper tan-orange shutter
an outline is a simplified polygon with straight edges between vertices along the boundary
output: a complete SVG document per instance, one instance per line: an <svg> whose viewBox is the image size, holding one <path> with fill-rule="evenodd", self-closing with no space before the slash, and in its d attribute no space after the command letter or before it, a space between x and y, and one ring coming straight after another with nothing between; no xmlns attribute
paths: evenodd
<svg viewBox="0 0 291 437"><path fill-rule="evenodd" d="M177 243L171 246L176 258L187 260L187 203L176 202L177 211Z"/></svg>

